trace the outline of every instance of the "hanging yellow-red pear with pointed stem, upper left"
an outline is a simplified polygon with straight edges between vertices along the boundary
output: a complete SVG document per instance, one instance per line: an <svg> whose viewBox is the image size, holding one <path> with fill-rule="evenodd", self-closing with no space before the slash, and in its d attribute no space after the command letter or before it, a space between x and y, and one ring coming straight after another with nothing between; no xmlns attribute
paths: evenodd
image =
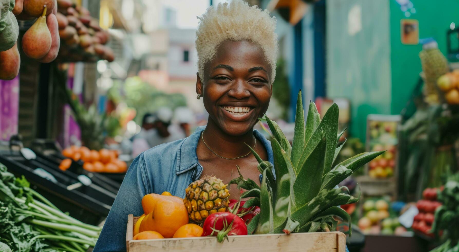
<svg viewBox="0 0 459 252"><path fill-rule="evenodd" d="M22 51L31 58L45 57L51 49L51 33L46 25L46 6L43 15L28 29L22 37Z"/></svg>

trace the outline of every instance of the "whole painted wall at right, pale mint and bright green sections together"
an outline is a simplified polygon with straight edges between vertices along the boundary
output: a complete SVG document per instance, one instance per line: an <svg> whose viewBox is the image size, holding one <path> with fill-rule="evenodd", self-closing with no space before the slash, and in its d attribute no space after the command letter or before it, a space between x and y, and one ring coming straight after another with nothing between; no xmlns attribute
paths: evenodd
<svg viewBox="0 0 459 252"><path fill-rule="evenodd" d="M434 37L446 54L446 32L459 26L459 0L411 0L420 38ZM360 6L361 27L348 32L349 11ZM400 21L407 18L396 0L327 1L326 92L352 105L350 133L364 140L366 116L397 115L408 102L419 73L421 45L402 45Z"/></svg>

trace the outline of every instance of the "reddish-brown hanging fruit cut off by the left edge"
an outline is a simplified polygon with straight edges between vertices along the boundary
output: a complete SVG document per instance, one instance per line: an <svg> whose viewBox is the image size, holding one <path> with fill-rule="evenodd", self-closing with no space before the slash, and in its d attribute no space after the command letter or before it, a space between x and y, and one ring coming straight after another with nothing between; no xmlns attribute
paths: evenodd
<svg viewBox="0 0 459 252"><path fill-rule="evenodd" d="M12 80L19 74L21 57L17 50L17 43L9 50L0 52L0 80Z"/></svg>

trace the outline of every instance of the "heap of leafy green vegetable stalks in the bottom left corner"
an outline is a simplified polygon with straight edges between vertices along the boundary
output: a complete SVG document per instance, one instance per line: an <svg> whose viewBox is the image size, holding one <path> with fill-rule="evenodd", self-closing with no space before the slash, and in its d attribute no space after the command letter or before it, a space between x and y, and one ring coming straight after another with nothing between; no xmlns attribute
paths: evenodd
<svg viewBox="0 0 459 252"><path fill-rule="evenodd" d="M0 251L84 252L101 232L68 216L0 164Z"/></svg>

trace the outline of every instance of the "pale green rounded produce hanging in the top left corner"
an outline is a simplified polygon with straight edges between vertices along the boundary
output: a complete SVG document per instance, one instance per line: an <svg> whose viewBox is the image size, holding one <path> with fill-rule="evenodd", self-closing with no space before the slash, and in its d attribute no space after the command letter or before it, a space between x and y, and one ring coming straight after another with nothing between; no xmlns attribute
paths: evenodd
<svg viewBox="0 0 459 252"><path fill-rule="evenodd" d="M0 52L9 50L17 41L19 26L13 12L15 0L0 0Z"/></svg>

